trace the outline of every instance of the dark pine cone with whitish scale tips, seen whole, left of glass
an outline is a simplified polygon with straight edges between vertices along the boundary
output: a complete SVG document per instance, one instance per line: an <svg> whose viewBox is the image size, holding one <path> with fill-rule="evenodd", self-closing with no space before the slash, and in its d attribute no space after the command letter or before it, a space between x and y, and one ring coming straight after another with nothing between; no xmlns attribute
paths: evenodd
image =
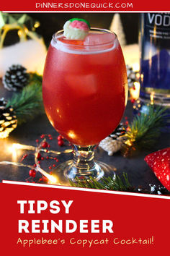
<svg viewBox="0 0 170 256"><path fill-rule="evenodd" d="M4 77L2 77L4 88L14 91L22 90L27 85L28 80L29 74L22 65L12 65L12 67L6 70Z"/></svg>

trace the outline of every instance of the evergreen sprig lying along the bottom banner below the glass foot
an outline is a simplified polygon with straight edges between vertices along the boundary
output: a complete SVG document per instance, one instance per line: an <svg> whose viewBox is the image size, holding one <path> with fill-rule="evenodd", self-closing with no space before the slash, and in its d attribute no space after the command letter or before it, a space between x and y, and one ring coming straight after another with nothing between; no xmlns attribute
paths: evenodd
<svg viewBox="0 0 170 256"><path fill-rule="evenodd" d="M100 179L99 182L92 177L89 180L76 179L76 182L69 181L72 187L134 192L134 188L128 181L128 174L125 173L123 173L123 179L116 175L115 179L109 176Z"/></svg>

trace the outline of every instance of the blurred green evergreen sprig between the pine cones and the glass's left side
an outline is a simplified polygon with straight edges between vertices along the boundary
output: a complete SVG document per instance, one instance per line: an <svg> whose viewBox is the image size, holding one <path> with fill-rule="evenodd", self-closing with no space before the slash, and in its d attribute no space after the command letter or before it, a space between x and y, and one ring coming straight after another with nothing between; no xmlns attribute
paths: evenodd
<svg viewBox="0 0 170 256"><path fill-rule="evenodd" d="M30 82L21 93L15 93L6 107L12 106L17 115L18 124L33 119L42 113L42 88L40 82Z"/></svg>

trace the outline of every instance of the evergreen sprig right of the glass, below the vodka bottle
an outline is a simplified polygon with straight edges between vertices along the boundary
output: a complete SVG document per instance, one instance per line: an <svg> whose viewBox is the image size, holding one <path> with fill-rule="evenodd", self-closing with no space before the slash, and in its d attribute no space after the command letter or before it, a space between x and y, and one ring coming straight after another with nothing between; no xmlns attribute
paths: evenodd
<svg viewBox="0 0 170 256"><path fill-rule="evenodd" d="M135 116L126 134L126 150L151 148L161 134L165 117L166 108L161 106L148 106L147 114L141 113L140 116Z"/></svg>

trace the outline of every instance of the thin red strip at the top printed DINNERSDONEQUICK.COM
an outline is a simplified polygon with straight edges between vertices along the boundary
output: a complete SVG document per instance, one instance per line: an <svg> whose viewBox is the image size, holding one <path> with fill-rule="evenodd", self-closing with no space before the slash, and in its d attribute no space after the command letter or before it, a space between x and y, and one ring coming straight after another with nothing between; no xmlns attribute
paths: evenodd
<svg viewBox="0 0 170 256"><path fill-rule="evenodd" d="M5 12L168 12L168 1L138 0L64 0L1 1Z"/></svg>

